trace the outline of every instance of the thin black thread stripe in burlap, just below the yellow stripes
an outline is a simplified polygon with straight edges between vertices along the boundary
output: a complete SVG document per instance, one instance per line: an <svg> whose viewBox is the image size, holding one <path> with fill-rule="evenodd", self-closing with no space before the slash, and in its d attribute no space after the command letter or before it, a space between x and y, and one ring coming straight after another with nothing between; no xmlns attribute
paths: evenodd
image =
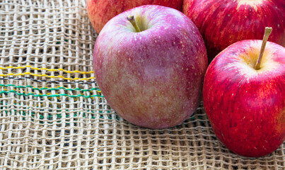
<svg viewBox="0 0 285 170"><path fill-rule="evenodd" d="M43 79L33 79L31 77L7 77L7 78L0 77L0 80L8 80L8 79L14 79L14 80L30 79L30 80L36 81L36 82L62 83L62 84L96 84L97 83L97 81L74 81L74 82L68 82L68 81L63 81L63 80L51 81L51 80L43 80Z"/></svg>

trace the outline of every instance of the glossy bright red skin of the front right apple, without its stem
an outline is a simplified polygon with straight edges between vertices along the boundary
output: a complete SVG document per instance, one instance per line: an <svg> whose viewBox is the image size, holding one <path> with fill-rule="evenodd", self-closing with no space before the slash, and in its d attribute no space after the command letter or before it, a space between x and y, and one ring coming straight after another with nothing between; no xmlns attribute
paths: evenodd
<svg viewBox="0 0 285 170"><path fill-rule="evenodd" d="M245 157L274 152L285 140L285 48L262 40L235 42L209 64L204 108L223 145Z"/></svg>

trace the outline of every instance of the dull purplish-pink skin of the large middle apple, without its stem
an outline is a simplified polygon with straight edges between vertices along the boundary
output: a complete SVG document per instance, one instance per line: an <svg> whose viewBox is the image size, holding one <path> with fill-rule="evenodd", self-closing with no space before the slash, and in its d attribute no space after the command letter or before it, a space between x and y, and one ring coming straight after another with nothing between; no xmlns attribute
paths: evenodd
<svg viewBox="0 0 285 170"><path fill-rule="evenodd" d="M129 15L147 29L136 33ZM202 99L207 50L194 23L173 8L139 6L112 18L95 42L93 63L107 102L134 125L173 127Z"/></svg>

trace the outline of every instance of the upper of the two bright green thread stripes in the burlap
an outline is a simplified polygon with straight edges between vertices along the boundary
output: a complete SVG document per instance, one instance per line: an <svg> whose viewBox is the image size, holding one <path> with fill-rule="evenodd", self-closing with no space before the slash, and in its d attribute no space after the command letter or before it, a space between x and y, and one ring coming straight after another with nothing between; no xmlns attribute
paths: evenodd
<svg viewBox="0 0 285 170"><path fill-rule="evenodd" d="M33 87L33 86L16 86L14 84L0 84L0 87L10 87L13 86L14 88L31 88L33 90L37 90L37 91L42 91L42 90L47 90L47 91L53 91L53 90L59 90L59 89L64 89L66 91L98 91L101 92L101 90L99 88L92 88L92 89L80 89L80 88L75 88L75 89L69 89L66 87L56 87L56 88L47 88L47 87L41 87L41 88L37 88L37 87Z"/></svg>

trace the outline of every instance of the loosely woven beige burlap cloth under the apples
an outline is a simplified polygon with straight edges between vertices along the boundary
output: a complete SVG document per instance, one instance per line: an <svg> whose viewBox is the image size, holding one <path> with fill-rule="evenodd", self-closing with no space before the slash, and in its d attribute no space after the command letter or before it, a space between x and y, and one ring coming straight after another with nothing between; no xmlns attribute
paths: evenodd
<svg viewBox="0 0 285 170"><path fill-rule="evenodd" d="M0 169L285 169L285 143L226 149L202 103L165 130L120 118L95 81L85 0L0 0L0 31Z"/></svg>

